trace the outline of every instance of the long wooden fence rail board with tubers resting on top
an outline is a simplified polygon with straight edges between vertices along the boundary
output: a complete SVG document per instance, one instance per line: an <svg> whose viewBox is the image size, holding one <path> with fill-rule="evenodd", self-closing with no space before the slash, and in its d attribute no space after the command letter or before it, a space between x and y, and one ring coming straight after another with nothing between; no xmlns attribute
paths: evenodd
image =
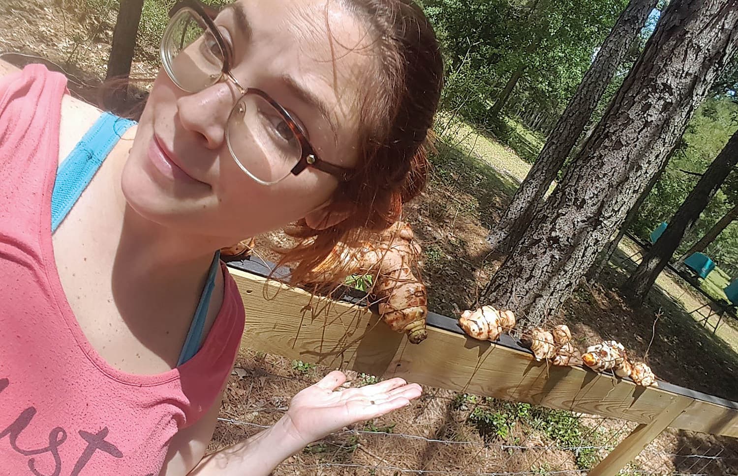
<svg viewBox="0 0 738 476"><path fill-rule="evenodd" d="M659 388L642 388L582 368L554 367L530 354L429 327L419 345L351 304L240 270L231 274L246 307L242 345L331 368L516 402L649 423L689 405L669 426L738 437L738 410Z"/></svg>

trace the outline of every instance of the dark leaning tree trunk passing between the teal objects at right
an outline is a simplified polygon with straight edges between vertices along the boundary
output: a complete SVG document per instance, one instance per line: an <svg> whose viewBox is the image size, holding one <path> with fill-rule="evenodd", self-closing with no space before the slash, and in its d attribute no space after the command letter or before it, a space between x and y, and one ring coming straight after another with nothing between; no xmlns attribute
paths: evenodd
<svg viewBox="0 0 738 476"><path fill-rule="evenodd" d="M723 184L728 173L738 164L738 132L735 133L710 167L703 174L692 192L684 200L677 212L669 221L669 226L646 253L641 264L633 271L630 279L625 281L623 291L632 300L640 303L656 282L659 273L669 264L684 234L700 218L700 213Z"/></svg>

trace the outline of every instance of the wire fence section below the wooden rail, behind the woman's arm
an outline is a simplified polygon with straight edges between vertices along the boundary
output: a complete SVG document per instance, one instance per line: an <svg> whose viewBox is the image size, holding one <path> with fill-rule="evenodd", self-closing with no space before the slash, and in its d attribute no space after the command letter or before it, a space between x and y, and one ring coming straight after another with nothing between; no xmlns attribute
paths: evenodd
<svg viewBox="0 0 738 476"><path fill-rule="evenodd" d="M274 424L328 369L242 351L211 449ZM376 381L347 371L351 385ZM279 475L586 475L636 426L630 421L424 389L413 405L309 445ZM738 441L667 430L621 475L738 475Z"/></svg>

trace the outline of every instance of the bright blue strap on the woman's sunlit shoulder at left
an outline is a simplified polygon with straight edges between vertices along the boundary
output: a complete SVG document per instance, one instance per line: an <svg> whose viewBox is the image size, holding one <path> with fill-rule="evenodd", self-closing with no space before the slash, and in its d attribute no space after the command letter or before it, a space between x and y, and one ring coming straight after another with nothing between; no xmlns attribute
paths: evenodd
<svg viewBox="0 0 738 476"><path fill-rule="evenodd" d="M82 195L97 169L103 164L118 139L136 124L111 113L103 113L77 146L59 165L51 199L51 231L61 222Z"/></svg>

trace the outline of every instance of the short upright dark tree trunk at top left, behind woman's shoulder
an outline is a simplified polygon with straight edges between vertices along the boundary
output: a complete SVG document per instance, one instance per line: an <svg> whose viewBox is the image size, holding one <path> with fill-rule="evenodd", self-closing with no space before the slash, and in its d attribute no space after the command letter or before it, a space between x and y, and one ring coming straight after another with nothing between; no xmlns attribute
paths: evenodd
<svg viewBox="0 0 738 476"><path fill-rule="evenodd" d="M111 77L128 77L134 59L136 35L141 20L143 0L120 0L120 9L113 30L113 46L108 58L108 73Z"/></svg>

